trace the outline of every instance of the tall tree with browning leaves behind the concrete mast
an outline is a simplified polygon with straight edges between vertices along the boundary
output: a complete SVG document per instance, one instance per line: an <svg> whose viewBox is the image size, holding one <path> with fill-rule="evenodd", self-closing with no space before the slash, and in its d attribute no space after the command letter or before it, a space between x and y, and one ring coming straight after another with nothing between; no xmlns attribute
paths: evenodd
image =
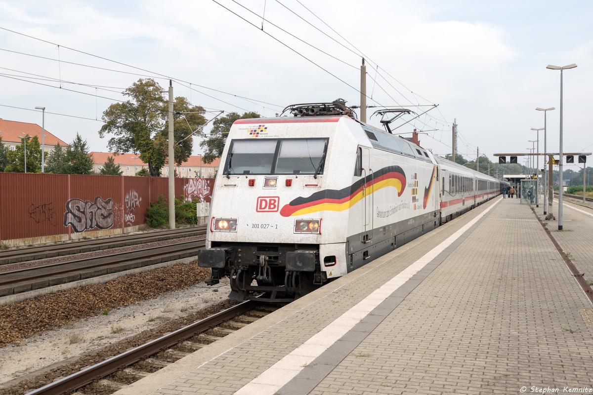
<svg viewBox="0 0 593 395"><path fill-rule="evenodd" d="M100 137L113 134L107 146L114 153L139 153L151 176L160 176L168 156L168 98L153 79L139 79L123 91L130 99L111 104L103 112ZM201 134L204 109L184 97L174 98L174 162L181 165L192 154L193 134Z"/></svg>

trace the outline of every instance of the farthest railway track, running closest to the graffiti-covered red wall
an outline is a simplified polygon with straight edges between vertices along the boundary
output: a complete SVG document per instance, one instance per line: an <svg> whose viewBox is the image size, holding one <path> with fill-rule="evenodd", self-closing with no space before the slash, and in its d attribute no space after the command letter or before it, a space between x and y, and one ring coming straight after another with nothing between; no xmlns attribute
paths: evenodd
<svg viewBox="0 0 593 395"><path fill-rule="evenodd" d="M79 240L68 243L9 249L0 251L0 265L36 261L37 259L54 258L55 256L73 255L76 253L154 243L162 240L180 239L182 237L200 236L205 234L205 226L193 226L182 229L145 232L135 235L120 235L104 237L101 239Z"/></svg>

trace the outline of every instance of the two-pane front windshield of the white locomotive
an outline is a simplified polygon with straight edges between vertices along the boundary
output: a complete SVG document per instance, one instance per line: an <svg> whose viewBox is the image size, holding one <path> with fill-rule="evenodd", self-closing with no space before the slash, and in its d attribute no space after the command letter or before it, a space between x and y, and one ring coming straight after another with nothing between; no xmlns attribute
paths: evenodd
<svg viewBox="0 0 593 395"><path fill-rule="evenodd" d="M225 174L323 174L327 139L232 140Z"/></svg>

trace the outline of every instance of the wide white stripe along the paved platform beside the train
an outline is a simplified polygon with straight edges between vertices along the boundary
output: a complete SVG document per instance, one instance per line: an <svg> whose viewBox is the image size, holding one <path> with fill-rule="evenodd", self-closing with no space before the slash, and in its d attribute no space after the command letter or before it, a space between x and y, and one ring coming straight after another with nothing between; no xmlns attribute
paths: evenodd
<svg viewBox="0 0 593 395"><path fill-rule="evenodd" d="M412 265L401 271L395 277L375 290L369 296L360 301L352 309L346 311L342 316L338 317L334 322L330 323L308 341L296 348L286 357L280 359L276 364L272 365L268 370L262 372L259 376L251 380L243 388L235 392L235 395L273 395L278 392L286 383L292 380L307 364L314 361L324 351L330 348L333 343L338 341L345 335L352 327L360 322L368 313L375 307L379 306L388 296L390 296L397 288L405 284L413 275L419 272L424 266L432 261L439 253L445 250L455 240L457 240L466 230L470 229L477 221L482 219L486 213L494 208L498 203L491 205L489 208L479 214L476 218L468 222L464 227L449 236L441 244L426 253L422 258L418 259Z"/></svg>

